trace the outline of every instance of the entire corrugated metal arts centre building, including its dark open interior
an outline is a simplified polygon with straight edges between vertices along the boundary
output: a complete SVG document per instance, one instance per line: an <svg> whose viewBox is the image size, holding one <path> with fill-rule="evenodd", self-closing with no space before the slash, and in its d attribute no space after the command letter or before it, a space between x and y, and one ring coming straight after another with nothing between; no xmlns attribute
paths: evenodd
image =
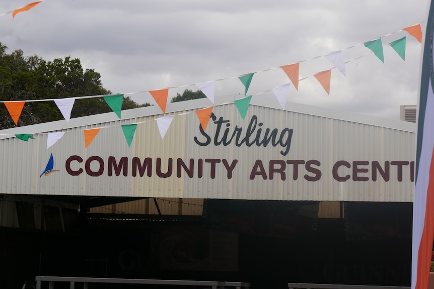
<svg viewBox="0 0 434 289"><path fill-rule="evenodd" d="M85 260L105 255L96 258L105 262L105 273L98 271L103 275L225 276L252 287L262 284L261 274L276 287L283 280L406 285L415 124L293 103L282 110L265 98L252 98L242 118L238 98L219 98L204 131L196 112L212 105L207 99L168 104L166 114L153 106L122 111L121 119L108 113L0 131L0 228L20 228L2 234L8 244L17 244L17 232L43 236L30 238L42 249L32 251L39 259L29 262L40 265L29 274L57 273L46 243L63 237L46 234L63 232L65 244L90 238L100 245L76 250L90 250ZM95 128L101 130L85 147L84 131ZM47 148L53 132L64 134ZM144 232L144 243L135 244ZM168 244L179 236L206 258L175 263ZM18 246L14 252L21 256ZM146 251L147 265L125 261L121 247ZM396 249L401 256L393 255ZM71 255L70 264L82 260ZM86 274L97 275L92 266L94 274ZM321 273L312 275L311 266ZM57 274L73 274L66 268Z"/></svg>

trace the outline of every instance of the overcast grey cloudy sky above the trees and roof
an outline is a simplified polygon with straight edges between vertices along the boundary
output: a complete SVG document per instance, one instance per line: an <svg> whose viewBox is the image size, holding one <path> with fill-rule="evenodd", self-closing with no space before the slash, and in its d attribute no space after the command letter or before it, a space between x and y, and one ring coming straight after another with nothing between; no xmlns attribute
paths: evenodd
<svg viewBox="0 0 434 289"><path fill-rule="evenodd" d="M2 0L0 14L29 2ZM427 9L427 0L45 0L1 16L0 42L47 61L80 58L113 93L177 87L169 98L217 79L216 98L244 93L231 77L252 72L248 95L256 94L290 82L271 68L301 62L306 79L288 101L399 119L400 105L417 103L421 56L421 44L399 31L421 24L424 33ZM403 36L405 61L388 46ZM379 37L385 63L363 45ZM328 95L313 74L333 67L318 56L338 50L346 77L333 69ZM155 104L148 92L133 99Z"/></svg>

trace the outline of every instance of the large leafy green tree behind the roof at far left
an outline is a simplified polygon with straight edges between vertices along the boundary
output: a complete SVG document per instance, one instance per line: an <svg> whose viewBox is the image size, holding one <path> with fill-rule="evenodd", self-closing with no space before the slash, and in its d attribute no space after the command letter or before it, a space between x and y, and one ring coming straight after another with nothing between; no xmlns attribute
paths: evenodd
<svg viewBox="0 0 434 289"><path fill-rule="evenodd" d="M25 57L21 49L7 54L7 46L0 43L0 101L31 101L41 99L63 99L87 95L107 95L101 75L94 69L83 70L79 58L56 58L45 61L34 55ZM149 106L138 105L124 97L122 109ZM71 117L81 117L111 112L101 98L77 99ZM26 102L19 126L63 119L52 101ZM15 127L6 107L0 105L0 129Z"/></svg>

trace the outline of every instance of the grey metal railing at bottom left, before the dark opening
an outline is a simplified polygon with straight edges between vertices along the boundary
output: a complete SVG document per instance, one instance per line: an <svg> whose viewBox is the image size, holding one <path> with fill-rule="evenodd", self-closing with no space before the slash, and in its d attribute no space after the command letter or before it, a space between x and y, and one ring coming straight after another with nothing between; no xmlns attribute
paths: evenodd
<svg viewBox="0 0 434 289"><path fill-rule="evenodd" d="M69 282L69 288L74 289L76 283L83 283L88 289L89 283L117 283L117 284L152 284L152 285L190 285L204 286L212 289L236 287L249 289L250 283L227 281L196 281L196 280L160 280L160 279L123 279L123 278L92 278L92 277L57 277L36 276L36 289L42 289L42 281L48 282L48 288L54 289L54 282Z"/></svg>

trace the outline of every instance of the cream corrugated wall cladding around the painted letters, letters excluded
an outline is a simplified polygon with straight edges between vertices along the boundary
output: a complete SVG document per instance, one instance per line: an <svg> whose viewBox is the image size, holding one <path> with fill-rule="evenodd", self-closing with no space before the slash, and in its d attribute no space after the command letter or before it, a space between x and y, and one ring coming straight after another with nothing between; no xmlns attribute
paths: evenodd
<svg viewBox="0 0 434 289"><path fill-rule="evenodd" d="M146 109L146 108L144 108ZM155 112L155 108L152 109ZM143 110L143 112L146 110ZM386 161L407 161L414 159L414 132L399 129L400 122L390 122L397 128L373 125L372 123L347 120L339 117L320 116L296 111L285 111L260 105L250 105L245 119L242 119L235 104L219 105L213 108L217 119L223 118L220 138L224 130L229 135L234 128L242 128L246 134L249 122L257 117L256 128L277 129L278 133L284 129L293 129L291 149L287 155L280 154L282 146L258 147L236 146L234 142L228 146L213 145L217 125L210 120L206 133L210 136L211 144L199 146L194 138L204 140L198 130L199 121L194 109L178 110L176 112L150 114L117 121L98 122L98 116L87 118L86 123L67 128L64 136L49 149L46 148L47 134L38 133L36 140L28 142L17 138L0 140L0 183L1 194L35 194L35 195L82 195L82 196L119 196L119 197L150 197L159 199L243 199L243 200L314 200L314 201L369 201L369 202L411 202L413 183L409 178L409 166L402 167L404 179L397 180L397 167L391 165L390 180L372 181L371 164L378 161L384 165ZM329 112L325 113L331 114ZM144 113L146 115L146 113ZM161 139L156 118L174 115L169 130ZM79 121L79 120L78 120ZM84 120L80 120L85 122ZM375 120L377 123L381 121ZM56 122L57 123L57 122ZM128 147L123 136L121 125L138 123L131 147ZM262 123L260 127L259 123ZM386 122L385 122L386 123ZM49 124L44 124L46 127ZM33 129L31 126L29 129ZM404 126L402 126L404 127ZM102 128L88 148L84 147L83 130ZM22 128L20 128L22 130ZM57 128L55 131L59 131ZM18 130L17 130L18 131ZM31 131L29 131L31 133ZM263 132L262 132L263 136ZM49 176L40 176L49 155L54 156L55 171ZM71 176L66 172L65 161L69 156L77 155L82 161L73 161L70 168L83 172L78 176ZM91 156L100 157L105 168L101 176L90 176L85 172L85 163ZM108 158L115 157L119 161L122 157L128 159L127 176L109 176L107 172ZM145 173L142 177L131 176L133 158L141 162L152 158L152 177ZM173 165L172 175L157 177L157 158L161 159L161 171L168 170L168 160L174 163L181 158L185 163L194 161L193 177L187 177L185 171L176 176L176 164ZM211 165L206 159L216 159L215 177L210 175ZM232 175L223 166L226 159L230 164L237 160ZM199 176L199 161L203 161L202 175ZM266 172L266 179L256 175L250 179L255 161L260 160ZM285 162L288 160L317 160L321 163L316 168L321 172L321 179L309 181L305 175L313 176L306 164L300 166L298 179L293 179L294 168L285 165L284 177L280 173L269 173L270 160ZM339 174L350 175L345 182L337 181L332 173L333 164L344 160L349 164L353 161L367 161L367 176L369 181L354 181L352 168L339 167ZM315 167L315 166L314 166ZM92 171L99 169L97 161L90 162ZM271 180L271 177L273 179ZM172 202L174 203L174 202ZM169 205L170 203L168 203ZM173 205L175 206L176 205ZM116 209L118 210L118 209ZM152 207L149 206L149 210ZM170 211L170 209L168 209ZM121 211L121 210L120 210Z"/></svg>

